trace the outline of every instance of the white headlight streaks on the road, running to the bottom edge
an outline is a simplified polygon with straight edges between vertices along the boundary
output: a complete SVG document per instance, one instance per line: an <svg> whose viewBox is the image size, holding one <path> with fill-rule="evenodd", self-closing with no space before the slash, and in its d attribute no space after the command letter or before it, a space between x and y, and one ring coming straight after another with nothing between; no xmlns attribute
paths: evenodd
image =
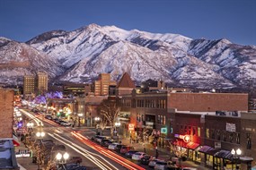
<svg viewBox="0 0 256 170"><path fill-rule="evenodd" d="M66 140L65 138L59 136L59 135L56 134L56 133L54 133L54 135L51 134L51 133L49 133L49 135L50 135L52 138L54 138L54 139L56 139L56 140L58 140L58 141L60 141L60 142L62 142L62 143L64 143L64 144L66 144L69 148L74 149L76 152L80 153L80 154L83 155L84 157L87 157L87 158L88 158L89 160L91 160L96 166L101 167L103 170L108 170L108 169L111 170L111 169L113 169L113 168L116 169L116 170L119 170L117 167L111 165L110 162L108 162L108 161L107 161L105 158L103 158L102 156L100 156L100 155L98 155L98 154L95 154L95 153L93 153L93 152L90 152L90 151L88 151L88 150L86 150L86 149L83 149L82 147L76 145L75 143L72 143L70 140ZM57 137L56 137L56 136L57 136ZM68 143L70 143L70 144L68 144ZM73 145L73 146L72 146L72 145ZM82 150L83 152L80 151L80 150ZM96 157L101 157L102 160L104 160L106 163L108 163L108 164L109 164L110 166L112 166L113 168L110 168L110 166L104 164L100 159L98 159L98 158L96 158L96 157L93 157L93 155L96 156Z"/></svg>

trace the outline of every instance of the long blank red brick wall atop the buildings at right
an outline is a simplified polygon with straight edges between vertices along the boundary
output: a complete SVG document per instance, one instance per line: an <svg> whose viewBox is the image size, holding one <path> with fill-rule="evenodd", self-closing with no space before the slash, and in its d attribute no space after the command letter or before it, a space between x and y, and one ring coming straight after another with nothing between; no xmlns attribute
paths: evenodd
<svg viewBox="0 0 256 170"><path fill-rule="evenodd" d="M170 93L168 107L178 111L247 111L248 94L242 93Z"/></svg>

